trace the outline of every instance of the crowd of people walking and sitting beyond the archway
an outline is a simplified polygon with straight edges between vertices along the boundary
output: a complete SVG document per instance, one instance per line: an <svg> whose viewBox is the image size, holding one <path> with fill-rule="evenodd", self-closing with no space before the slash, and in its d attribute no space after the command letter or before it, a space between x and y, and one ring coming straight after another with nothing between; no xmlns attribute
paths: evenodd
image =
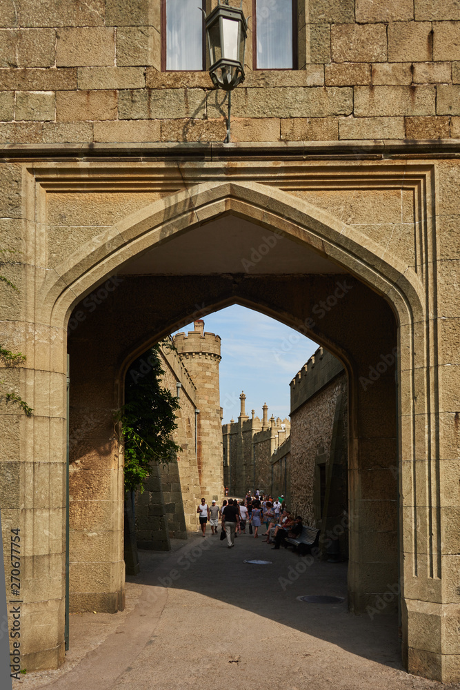
<svg viewBox="0 0 460 690"><path fill-rule="evenodd" d="M238 502L237 499L229 498L228 501L223 501L221 508L214 499L209 507L206 499L202 498L201 504L197 507L197 513L199 513L203 537L206 537L208 521L212 534L217 534L219 516L221 517L222 531L226 535L228 549L234 546L235 537L246 534L246 526L250 534L254 532L254 539L257 539L259 527L264 524L266 532L261 536L266 537L265 541L268 544L274 544L274 549L279 549L286 537L299 536L302 531L302 518L300 515L294 517L290 511L286 510L283 495L273 500L270 495L260 494L259 491L256 491L254 496L248 491L245 500Z"/></svg>

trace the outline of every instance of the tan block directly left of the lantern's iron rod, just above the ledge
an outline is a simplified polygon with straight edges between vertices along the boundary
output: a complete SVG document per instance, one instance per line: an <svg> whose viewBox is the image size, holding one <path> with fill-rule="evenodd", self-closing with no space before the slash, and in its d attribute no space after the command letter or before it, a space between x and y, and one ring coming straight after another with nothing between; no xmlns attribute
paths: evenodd
<svg viewBox="0 0 460 690"><path fill-rule="evenodd" d="M237 132L237 120L234 120L232 121L232 141L241 141L236 138ZM182 118L161 121L161 141L223 141L226 133L227 126L223 118L204 120ZM254 140L244 139L244 141ZM259 141L272 141L272 139L259 139Z"/></svg>

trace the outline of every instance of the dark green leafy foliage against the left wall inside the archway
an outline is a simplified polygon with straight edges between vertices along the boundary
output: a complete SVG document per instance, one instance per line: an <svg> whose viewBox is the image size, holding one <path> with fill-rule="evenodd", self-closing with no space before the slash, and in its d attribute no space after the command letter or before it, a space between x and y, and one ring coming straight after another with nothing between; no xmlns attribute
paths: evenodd
<svg viewBox="0 0 460 690"><path fill-rule="evenodd" d="M174 347L170 340L163 347ZM161 386L160 345L132 363L125 381L126 403L117 413L125 453L125 490L143 491L152 463L168 464L181 447L172 439L177 429L177 398Z"/></svg>

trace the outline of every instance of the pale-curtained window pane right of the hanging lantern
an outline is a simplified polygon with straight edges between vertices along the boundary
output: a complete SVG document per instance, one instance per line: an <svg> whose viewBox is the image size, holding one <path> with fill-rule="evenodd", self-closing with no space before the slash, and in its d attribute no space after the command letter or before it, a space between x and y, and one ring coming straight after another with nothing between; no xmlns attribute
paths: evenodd
<svg viewBox="0 0 460 690"><path fill-rule="evenodd" d="M297 69L297 0L254 0L254 66Z"/></svg>

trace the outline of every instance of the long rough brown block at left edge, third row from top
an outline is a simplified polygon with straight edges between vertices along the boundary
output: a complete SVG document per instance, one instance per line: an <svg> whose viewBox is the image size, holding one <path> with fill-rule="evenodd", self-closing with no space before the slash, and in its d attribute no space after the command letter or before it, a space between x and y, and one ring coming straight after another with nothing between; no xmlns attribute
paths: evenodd
<svg viewBox="0 0 460 690"><path fill-rule="evenodd" d="M60 68L40 69L0 69L0 90L69 90L77 88L77 70Z"/></svg>

